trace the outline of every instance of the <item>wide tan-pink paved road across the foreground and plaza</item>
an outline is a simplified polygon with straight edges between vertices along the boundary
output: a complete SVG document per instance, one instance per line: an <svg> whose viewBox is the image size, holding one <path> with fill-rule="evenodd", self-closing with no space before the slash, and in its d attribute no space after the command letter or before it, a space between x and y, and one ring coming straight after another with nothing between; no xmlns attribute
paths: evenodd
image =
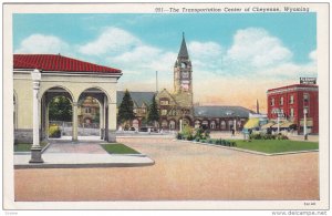
<svg viewBox="0 0 332 216"><path fill-rule="evenodd" d="M15 200L319 199L319 154L260 156L169 138L121 138L146 167L15 169Z"/></svg>

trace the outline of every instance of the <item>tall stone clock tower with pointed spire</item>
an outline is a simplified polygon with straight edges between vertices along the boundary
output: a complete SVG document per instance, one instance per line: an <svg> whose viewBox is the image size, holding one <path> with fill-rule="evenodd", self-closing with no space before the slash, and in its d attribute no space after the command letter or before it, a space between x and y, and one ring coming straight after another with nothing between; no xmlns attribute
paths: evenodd
<svg viewBox="0 0 332 216"><path fill-rule="evenodd" d="M185 33L174 65L174 94L183 106L193 106L193 68Z"/></svg>

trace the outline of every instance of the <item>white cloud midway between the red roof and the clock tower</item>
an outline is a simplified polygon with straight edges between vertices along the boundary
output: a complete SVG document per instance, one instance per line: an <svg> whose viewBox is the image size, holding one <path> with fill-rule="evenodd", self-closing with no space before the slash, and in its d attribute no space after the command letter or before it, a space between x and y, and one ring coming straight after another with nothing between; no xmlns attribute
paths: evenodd
<svg viewBox="0 0 332 216"><path fill-rule="evenodd" d="M139 45L141 41L129 32L110 27L94 41L79 48L86 55L116 54Z"/></svg>

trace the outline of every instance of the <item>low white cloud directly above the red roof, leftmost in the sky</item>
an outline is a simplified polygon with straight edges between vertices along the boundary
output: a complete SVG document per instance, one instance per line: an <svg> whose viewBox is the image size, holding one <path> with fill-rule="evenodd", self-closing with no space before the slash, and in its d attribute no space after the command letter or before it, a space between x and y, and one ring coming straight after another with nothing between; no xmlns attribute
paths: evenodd
<svg viewBox="0 0 332 216"><path fill-rule="evenodd" d="M68 53L69 44L54 35L32 34L24 39L14 53Z"/></svg>

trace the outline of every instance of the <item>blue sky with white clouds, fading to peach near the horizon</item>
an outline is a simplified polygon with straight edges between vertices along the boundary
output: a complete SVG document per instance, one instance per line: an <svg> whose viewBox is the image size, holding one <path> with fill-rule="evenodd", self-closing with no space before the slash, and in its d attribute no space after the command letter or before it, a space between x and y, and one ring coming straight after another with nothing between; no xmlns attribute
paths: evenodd
<svg viewBox="0 0 332 216"><path fill-rule="evenodd" d="M194 100L241 105L246 96L250 107L255 97L264 103L269 88L317 76L315 23L311 12L14 14L13 51L61 53L118 68L124 72L118 88L132 91L153 91L158 71L160 88L172 91L173 65L185 32Z"/></svg>

